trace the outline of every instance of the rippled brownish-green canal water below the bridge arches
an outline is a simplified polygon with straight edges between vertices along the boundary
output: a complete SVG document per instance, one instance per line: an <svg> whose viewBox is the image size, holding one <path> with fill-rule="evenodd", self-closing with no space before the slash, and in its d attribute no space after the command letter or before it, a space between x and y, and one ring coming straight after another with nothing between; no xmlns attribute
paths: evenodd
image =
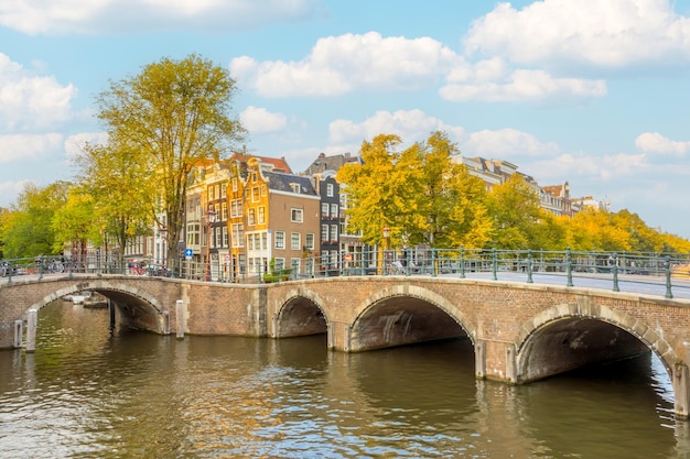
<svg viewBox="0 0 690 459"><path fill-rule="evenodd" d="M57 302L0 351L2 458L690 458L653 357L508 386L467 340L347 354L325 337L109 330Z"/></svg>

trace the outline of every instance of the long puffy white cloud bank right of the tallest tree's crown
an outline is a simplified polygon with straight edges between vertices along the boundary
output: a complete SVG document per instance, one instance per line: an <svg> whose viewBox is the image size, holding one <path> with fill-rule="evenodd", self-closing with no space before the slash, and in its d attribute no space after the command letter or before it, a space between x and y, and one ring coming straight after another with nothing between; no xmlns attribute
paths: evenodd
<svg viewBox="0 0 690 459"><path fill-rule="evenodd" d="M242 87L262 97L413 90L434 86L444 77L448 84L440 95L450 101L572 103L606 94L603 80L556 78L543 70L513 69L498 57L470 63L429 37L382 37L376 32L321 39L299 62L257 62L241 56L229 67Z"/></svg>

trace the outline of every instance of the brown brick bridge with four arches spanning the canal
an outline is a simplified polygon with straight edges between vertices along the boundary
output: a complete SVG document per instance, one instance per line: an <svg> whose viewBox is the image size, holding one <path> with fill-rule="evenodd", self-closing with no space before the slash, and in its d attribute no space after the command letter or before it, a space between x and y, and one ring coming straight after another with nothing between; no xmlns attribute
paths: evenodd
<svg viewBox="0 0 690 459"><path fill-rule="evenodd" d="M477 378L511 384L651 351L672 382L676 414L689 415L688 299L422 276L260 285L46 277L0 285L0 348L24 346L40 332L32 317L41 307L83 291L108 297L111 317L123 326L177 337L326 334L330 349L346 352L462 337L474 345Z"/></svg>

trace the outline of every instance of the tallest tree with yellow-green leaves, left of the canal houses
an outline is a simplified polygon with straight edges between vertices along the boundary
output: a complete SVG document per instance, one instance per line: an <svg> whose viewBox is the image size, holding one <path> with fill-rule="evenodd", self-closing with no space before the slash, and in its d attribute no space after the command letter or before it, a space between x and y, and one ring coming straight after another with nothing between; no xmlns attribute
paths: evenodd
<svg viewBox="0 0 690 459"><path fill-rule="evenodd" d="M111 81L97 97L110 152L128 151L143 171L139 203L168 229L166 260L175 259L184 222L187 175L198 162L226 157L244 129L230 117L236 81L198 55L163 58L133 77Z"/></svg>

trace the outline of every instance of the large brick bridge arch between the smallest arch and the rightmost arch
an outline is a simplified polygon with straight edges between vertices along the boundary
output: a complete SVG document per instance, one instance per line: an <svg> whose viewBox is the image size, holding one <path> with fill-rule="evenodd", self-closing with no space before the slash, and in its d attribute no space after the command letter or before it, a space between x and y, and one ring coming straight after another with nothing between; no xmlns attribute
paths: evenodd
<svg viewBox="0 0 690 459"><path fill-rule="evenodd" d="M428 288L401 284L371 293L356 308L348 350L468 337L475 327L461 309Z"/></svg>

